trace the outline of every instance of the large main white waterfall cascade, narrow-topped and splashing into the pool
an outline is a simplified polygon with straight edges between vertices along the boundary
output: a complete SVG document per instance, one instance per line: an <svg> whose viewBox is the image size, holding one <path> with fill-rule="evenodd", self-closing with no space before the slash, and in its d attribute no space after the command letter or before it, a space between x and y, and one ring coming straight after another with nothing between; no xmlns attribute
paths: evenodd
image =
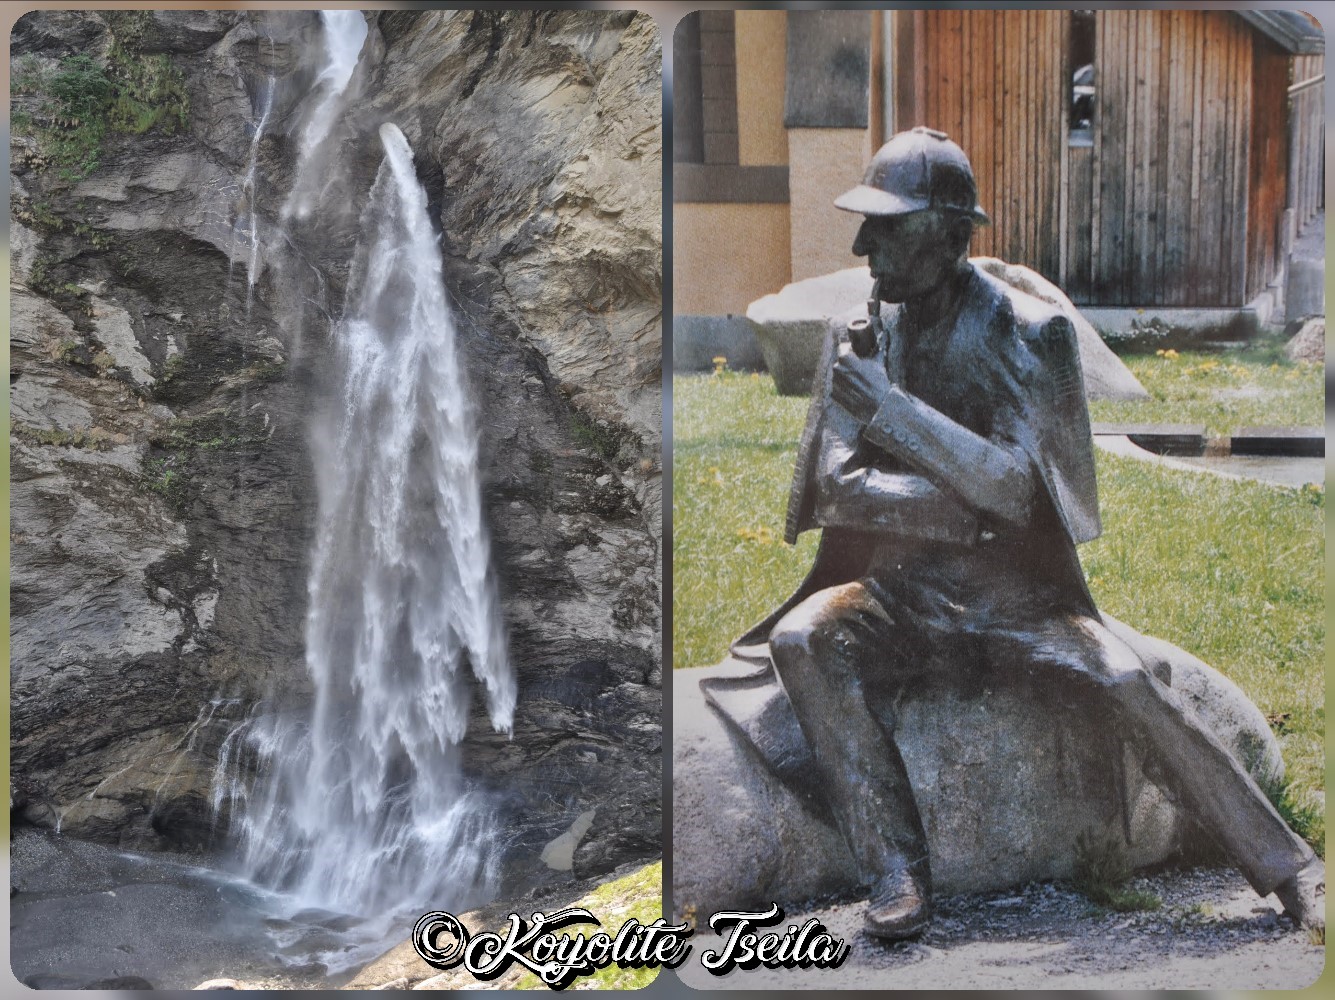
<svg viewBox="0 0 1335 1000"><path fill-rule="evenodd" d="M338 407L312 433L314 710L246 724L271 773L240 817L255 877L363 913L486 888L495 832L458 754L469 672L497 730L515 704L441 251L407 140L384 124L380 142L334 331Z"/></svg>

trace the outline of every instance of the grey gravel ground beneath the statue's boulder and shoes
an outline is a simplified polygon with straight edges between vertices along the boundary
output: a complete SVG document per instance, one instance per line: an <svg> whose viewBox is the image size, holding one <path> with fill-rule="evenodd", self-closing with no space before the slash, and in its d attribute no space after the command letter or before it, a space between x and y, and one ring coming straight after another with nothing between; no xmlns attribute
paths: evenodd
<svg viewBox="0 0 1335 1000"><path fill-rule="evenodd" d="M1113 913L1063 885L1033 884L940 901L917 941L882 945L861 933L862 903L809 907L852 948L838 969L734 971L700 964L721 939L698 935L678 975L700 989L1300 989L1320 976L1326 948L1259 899L1238 872L1200 868L1137 879L1163 900ZM782 929L782 928L781 928Z"/></svg>

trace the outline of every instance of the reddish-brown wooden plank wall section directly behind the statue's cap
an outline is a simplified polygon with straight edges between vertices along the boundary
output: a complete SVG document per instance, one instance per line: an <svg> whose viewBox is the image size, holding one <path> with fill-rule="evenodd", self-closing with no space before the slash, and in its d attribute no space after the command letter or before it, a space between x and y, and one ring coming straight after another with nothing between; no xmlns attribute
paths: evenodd
<svg viewBox="0 0 1335 1000"><path fill-rule="evenodd" d="M901 11L894 15L894 128L939 128L973 164L993 226L972 252L1051 280L1061 271L1065 13Z"/></svg>

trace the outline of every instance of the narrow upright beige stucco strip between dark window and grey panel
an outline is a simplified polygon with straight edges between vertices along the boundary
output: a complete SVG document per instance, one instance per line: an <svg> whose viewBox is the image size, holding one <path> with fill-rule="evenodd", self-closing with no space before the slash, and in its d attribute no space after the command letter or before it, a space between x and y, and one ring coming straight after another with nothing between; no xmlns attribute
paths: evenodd
<svg viewBox="0 0 1335 1000"><path fill-rule="evenodd" d="M786 11L737 11L737 160L744 167L788 163L784 131Z"/></svg>

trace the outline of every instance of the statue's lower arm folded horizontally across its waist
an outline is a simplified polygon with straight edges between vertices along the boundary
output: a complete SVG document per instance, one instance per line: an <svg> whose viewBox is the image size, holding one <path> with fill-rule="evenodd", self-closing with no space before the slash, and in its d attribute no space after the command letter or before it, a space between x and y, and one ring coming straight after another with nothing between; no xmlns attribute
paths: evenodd
<svg viewBox="0 0 1335 1000"><path fill-rule="evenodd" d="M880 467L872 449L860 445L860 430L842 407L825 407L816 466L816 521L822 527L952 542L979 537L977 518L925 475Z"/></svg>

